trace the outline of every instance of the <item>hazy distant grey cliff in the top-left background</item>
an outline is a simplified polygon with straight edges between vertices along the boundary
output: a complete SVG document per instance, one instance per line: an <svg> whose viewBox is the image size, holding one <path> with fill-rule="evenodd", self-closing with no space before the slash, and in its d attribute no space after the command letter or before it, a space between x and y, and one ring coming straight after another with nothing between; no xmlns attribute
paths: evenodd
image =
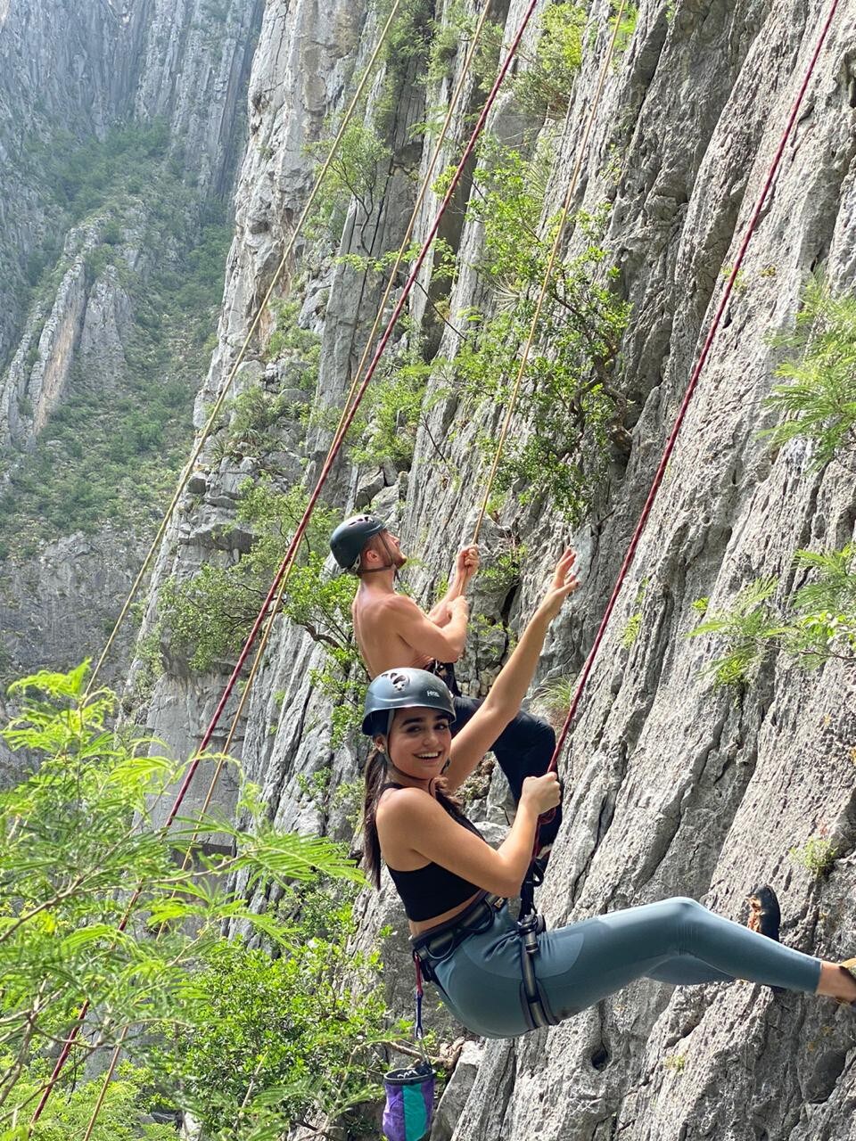
<svg viewBox="0 0 856 1141"><path fill-rule="evenodd" d="M202 225L215 216L231 220L260 10L259 0L0 6L5 510L17 508L15 477L27 456L43 450L46 426L68 400L88 395L121 411L139 379L130 362L135 349L140 355L140 310L148 306L152 330L167 306L162 292L154 301L151 290L144 296L147 283L160 288L158 275L181 264ZM105 156L118 148L118 131L142 138L153 124L161 135L151 168L129 181L122 162L110 165ZM130 157L143 165L138 154ZM96 162L104 180L86 183L87 163ZM164 170L170 200L152 193ZM89 197L80 193L81 183ZM215 272L219 285L219 260ZM159 365L161 382L178 378L194 394L203 369L189 361L180 335L172 337L169 354ZM144 364L152 370L151 361ZM81 445L87 435L81 432ZM56 467L41 478L67 476L57 453ZM70 512L48 543L38 533L32 542L19 542L19 534L1 542L3 678L97 654L152 532L144 511L130 527L99 519L83 536ZM124 672L131 637L127 631L120 640L108 675Z"/></svg>

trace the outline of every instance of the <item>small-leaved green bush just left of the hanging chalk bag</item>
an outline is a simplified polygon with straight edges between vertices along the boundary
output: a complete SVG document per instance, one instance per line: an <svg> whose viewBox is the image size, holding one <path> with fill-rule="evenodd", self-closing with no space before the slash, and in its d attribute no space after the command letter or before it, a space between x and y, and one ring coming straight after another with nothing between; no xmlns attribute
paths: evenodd
<svg viewBox="0 0 856 1141"><path fill-rule="evenodd" d="M164 1034L156 1052L154 1068L181 1090L207 1136L231 1139L236 1124L249 1132L272 1109L280 1127L346 1115L377 1099L375 1047L401 1037L401 1027L386 1028L378 955L349 949L353 892L316 881L288 898L297 915L285 921L285 953L219 944L195 980L203 998L194 1026Z"/></svg>

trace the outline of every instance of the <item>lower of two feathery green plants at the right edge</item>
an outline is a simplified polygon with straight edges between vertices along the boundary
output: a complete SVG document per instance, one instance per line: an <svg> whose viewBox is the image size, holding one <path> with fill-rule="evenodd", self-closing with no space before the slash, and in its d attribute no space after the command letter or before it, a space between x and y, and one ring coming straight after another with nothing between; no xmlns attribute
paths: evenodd
<svg viewBox="0 0 856 1141"><path fill-rule="evenodd" d="M856 662L856 543L838 551L797 551L794 565L813 578L788 600L783 614L770 602L776 578L745 586L730 609L706 614L689 637L718 634L726 653L709 666L718 685L752 681L776 647L805 670L834 658ZM693 604L698 609L697 602Z"/></svg>

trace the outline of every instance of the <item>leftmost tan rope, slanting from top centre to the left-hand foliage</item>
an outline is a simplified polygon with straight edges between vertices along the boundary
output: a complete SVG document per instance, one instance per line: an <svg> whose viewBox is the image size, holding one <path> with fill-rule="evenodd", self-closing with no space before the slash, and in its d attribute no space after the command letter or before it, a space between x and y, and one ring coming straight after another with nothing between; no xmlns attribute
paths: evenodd
<svg viewBox="0 0 856 1141"><path fill-rule="evenodd" d="M134 599L137 596L137 591L139 590L140 584L143 583L143 580L145 578L146 574L148 573L148 568L150 568L150 566L152 564L152 559L154 558L155 552L158 551L158 548L160 547L161 540L163 539L163 535L165 534L167 527L169 526L170 519L172 518L172 512L175 511L176 507L178 505L178 501L180 500L181 495L184 494L184 491L185 491L185 488L187 486L187 483L188 483L188 480L191 478L191 474L193 471L194 464L196 463L196 460L200 458L200 454L202 453L202 448L204 447L205 442L207 442L209 435L211 434L211 429L213 428L215 423L217 422L217 419L218 419L218 416L220 414L220 410L221 410L221 407L223 407L223 405L224 405L224 403L226 400L226 397L228 396L229 390L232 388L232 383L233 383L235 377L237 375L237 370L241 367L241 365L243 363L243 359L244 359L244 356L247 355L247 350L250 347L250 342L252 341L252 338L256 335L256 331L257 331L257 329L259 326L259 322L261 321L261 317L263 317L263 315L265 313L267 304L270 300L270 298L273 297L274 290L276 289L276 285L280 282L280 277L282 276L282 272L285 268L285 265L288 264L288 260L289 260L289 258L291 257L291 254L292 254L292 252L294 250L294 245L297 243L297 240L298 240L298 237L300 236L300 234L302 232L304 225L306 224L306 219L309 216L309 211L312 210L313 203L315 202L315 199L317 197L318 191L321 189L321 186L322 186L322 184L324 181L324 178L326 177L326 173L330 170L330 167L332 165L333 161L336 160L336 157L337 157L337 155L339 153L339 147L341 146L341 140L345 137L345 132L347 131L348 127L350 126L350 120L354 116L354 112L356 111L357 105L358 105L358 103L360 103L360 100L361 100L361 98L363 96L363 92L365 91L365 88L366 88L366 86L369 83L369 79L371 78L372 71L374 70L374 64L377 63L378 57L380 56L381 51L383 50L383 48L386 46L387 39L389 37L389 32L391 31L393 23L395 21L396 15L398 14L398 8L401 7L402 2L403 2L403 0L394 0L393 7L391 7L391 9L389 11L389 17L388 17L386 24L383 25L383 30L380 33L380 39L378 40L378 43L377 43L377 46L374 48L374 51L372 52L372 56L371 56L369 63L365 66L365 71L363 72L362 79L360 80L360 83L357 84L357 89L354 92L354 97L350 100L350 104L348 105L348 110L345 112L345 116L344 116L344 119L342 119L342 121L341 121L341 123L339 126L339 130L338 130L338 132L336 135L336 138L333 139L333 143L332 143L332 145L330 147L330 153L328 154L326 160L324 161L324 164L321 168L321 171L318 172L317 178L315 179L315 183L314 183L314 185L313 185L313 187L312 187L312 189L309 192L309 196L306 200L306 204L304 205L304 209L302 209L302 211L300 213L300 217L297 220L297 225L294 226L293 230L291 232L291 237L289 238L289 241L288 241L288 243L285 245L285 251L283 252L282 258L280 259L280 264L277 265L276 270L274 272L274 276L273 276L273 278L270 281L270 285L268 286L268 290L265 293L265 297L263 298L261 304L259 305L259 308L258 308L258 310L256 313L256 316L253 317L252 324L250 325L250 330L247 333L247 337L244 338L243 343L241 345L241 348L239 349L237 356L235 357L235 362L232 365L232 369L229 370L228 375L226 377L226 380L225 380L225 382L223 385L223 388L220 389L220 393L219 393L219 395L217 397L217 400L215 402L215 405L211 408L211 412L210 412L210 414L208 416L208 420L205 421L204 427L202 428L202 432L199 436L199 439L196 440L196 444L195 444L195 446L194 446L194 448L193 448L193 451L191 453L191 458L187 461L187 463L185 464L185 468L184 468L184 470L181 472L181 477L180 477L180 479L178 482L178 486L176 487L175 494L172 495L172 500L171 500L169 507L167 508L165 515L163 516L163 518L162 518L162 520L160 523L160 526L158 527L158 532L156 532L154 539L152 540L152 543L151 543L151 545L148 548L148 551L146 552L146 557L143 560L143 566L139 568L137 577L134 580L134 583L131 584L131 589L128 592L128 597L126 598L126 600L124 600L124 602L122 605L122 609L119 612L119 617L116 618L116 621L115 621L115 623L113 625L113 630L111 631L110 637L107 638L107 642L106 642L104 649L102 650L102 655L98 658L98 661L97 661L97 663L95 665L95 669L92 670L92 673L91 673L91 675L89 678L89 685L87 687L87 696L89 696L89 694L91 693L92 686L95 685L95 681L96 681L96 678L100 673L100 671L102 671L102 669L104 666L104 663L105 663L105 661L107 658L107 655L110 654L110 652L111 652L111 649L113 647L113 642L115 641L115 639L116 639L116 637L119 634L119 630L121 629L122 623L124 622L126 617L128 616L128 613L129 613L129 610L131 608L131 604L134 602Z"/></svg>

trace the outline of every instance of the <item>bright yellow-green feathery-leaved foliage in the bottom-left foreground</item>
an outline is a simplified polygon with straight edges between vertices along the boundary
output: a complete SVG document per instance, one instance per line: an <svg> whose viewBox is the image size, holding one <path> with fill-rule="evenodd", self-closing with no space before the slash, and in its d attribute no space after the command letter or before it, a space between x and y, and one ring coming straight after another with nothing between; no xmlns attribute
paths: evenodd
<svg viewBox="0 0 856 1141"><path fill-rule="evenodd" d="M263 895L318 873L362 882L337 845L276 833L251 786L240 803L248 828L212 816L155 825L153 806L186 766L115 730L115 698L87 695L87 672L42 671L10 688L19 714L2 737L33 769L0 793L0 1126L84 1002L66 1082L96 1038L110 1045L127 1031L124 1050L143 1065L159 1028L200 1042L211 1001L200 966L242 954L223 949L225 924L264 934L286 964L300 960L306 931L250 907L229 887L234 877ZM211 834L225 834L226 852L203 855L197 837Z"/></svg>

